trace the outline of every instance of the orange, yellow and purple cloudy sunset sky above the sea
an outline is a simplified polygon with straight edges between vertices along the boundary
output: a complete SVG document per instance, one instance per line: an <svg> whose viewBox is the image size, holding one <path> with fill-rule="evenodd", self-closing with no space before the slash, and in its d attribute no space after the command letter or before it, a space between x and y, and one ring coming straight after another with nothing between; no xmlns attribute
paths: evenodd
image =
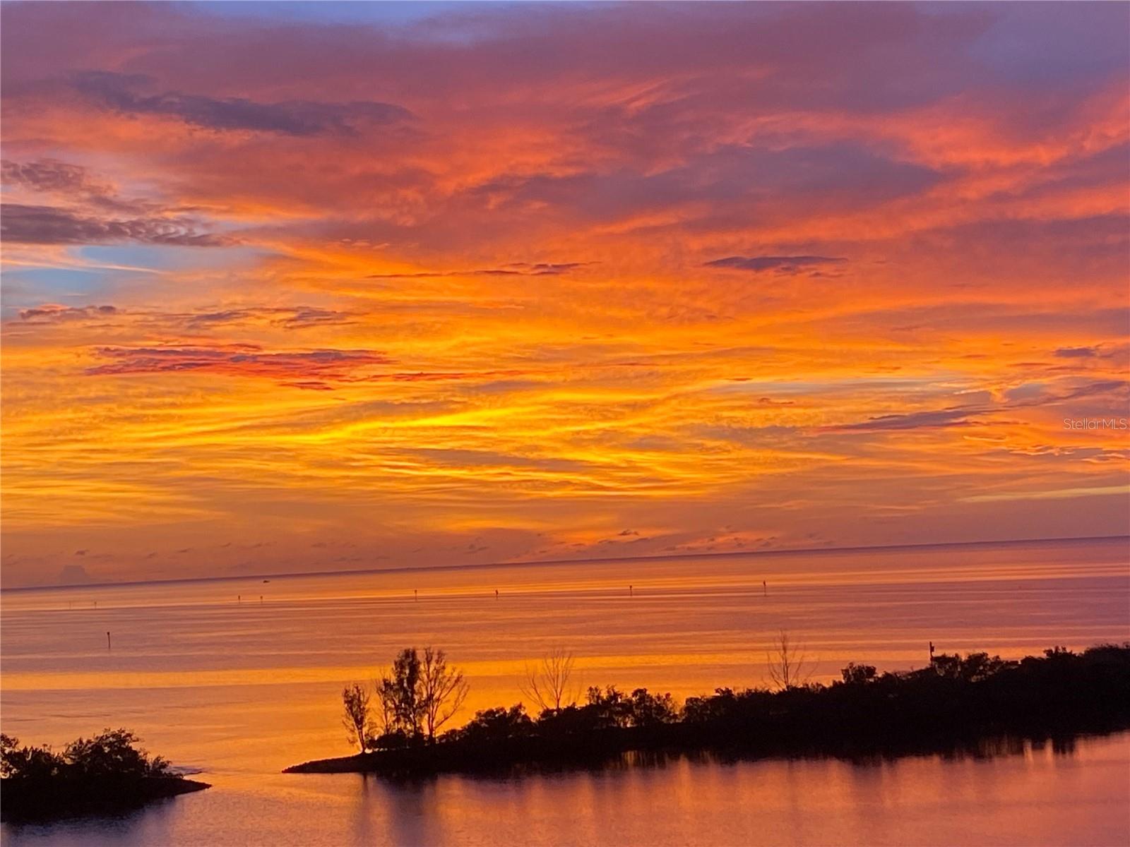
<svg viewBox="0 0 1130 847"><path fill-rule="evenodd" d="M5 3L6 586L1111 535L1125 3Z"/></svg>

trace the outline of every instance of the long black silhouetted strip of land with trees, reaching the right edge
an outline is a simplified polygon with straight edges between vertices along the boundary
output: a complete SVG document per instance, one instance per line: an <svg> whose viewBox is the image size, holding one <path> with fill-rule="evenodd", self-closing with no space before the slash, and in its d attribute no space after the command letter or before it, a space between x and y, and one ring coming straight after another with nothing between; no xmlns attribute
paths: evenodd
<svg viewBox="0 0 1130 847"><path fill-rule="evenodd" d="M425 648L421 656L409 648L373 695L360 686L342 693L358 754L288 770L480 770L663 749L855 756L1130 727L1130 643L1080 653L1053 647L1019 661L942 653L927 667L884 673L851 662L840 680L824 684L810 681L802 648L782 634L768 665L772 687L719 688L683 704L670 693L615 686L589 687L582 698L573 656L555 650L527 669L522 691L534 711L524 702L483 709L441 733L466 699L467 682L443 650Z"/></svg>

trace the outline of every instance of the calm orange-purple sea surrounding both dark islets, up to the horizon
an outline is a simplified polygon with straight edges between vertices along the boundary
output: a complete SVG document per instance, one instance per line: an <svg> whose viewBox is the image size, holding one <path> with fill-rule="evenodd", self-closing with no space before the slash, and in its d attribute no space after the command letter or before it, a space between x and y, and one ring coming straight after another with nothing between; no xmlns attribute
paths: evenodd
<svg viewBox="0 0 1130 847"><path fill-rule="evenodd" d="M278 772L347 753L342 683L412 644L464 670L469 714L520 699L524 664L555 646L582 684L686 697L764 682L781 629L815 679L849 660L921 666L930 640L1002 656L1128 640L1125 539L17 591L0 627L5 732L60 744L127 726L215 786L113 821L6 827L6 844L1130 842L1125 735L518 781Z"/></svg>

